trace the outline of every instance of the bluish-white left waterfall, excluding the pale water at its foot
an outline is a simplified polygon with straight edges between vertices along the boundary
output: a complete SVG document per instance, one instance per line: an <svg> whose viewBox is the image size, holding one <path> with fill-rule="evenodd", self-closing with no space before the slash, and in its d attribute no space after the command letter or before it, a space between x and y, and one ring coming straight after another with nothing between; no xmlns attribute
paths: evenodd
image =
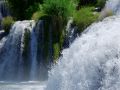
<svg viewBox="0 0 120 90"><path fill-rule="evenodd" d="M17 21L0 41L0 81L46 80L52 62L52 29L45 21ZM45 62L45 33L48 35L48 63ZM16 77L16 78L15 78Z"/></svg>

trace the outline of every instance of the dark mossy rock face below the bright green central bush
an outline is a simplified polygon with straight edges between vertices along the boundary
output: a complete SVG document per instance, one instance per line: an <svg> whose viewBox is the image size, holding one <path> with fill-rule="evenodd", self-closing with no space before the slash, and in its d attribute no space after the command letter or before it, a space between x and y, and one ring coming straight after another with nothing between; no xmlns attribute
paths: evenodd
<svg viewBox="0 0 120 90"><path fill-rule="evenodd" d="M51 17L51 16L42 16L42 20L44 20L44 44L41 46L40 43L38 43L38 48L43 47L43 57L44 57L44 62L46 64L49 63L49 57L50 57L50 38L52 38L52 57L53 57L53 62L59 58L60 52L62 50L62 45L63 45L63 39L64 39L64 23L62 19L59 17ZM50 36L50 29L51 31L51 36Z"/></svg>

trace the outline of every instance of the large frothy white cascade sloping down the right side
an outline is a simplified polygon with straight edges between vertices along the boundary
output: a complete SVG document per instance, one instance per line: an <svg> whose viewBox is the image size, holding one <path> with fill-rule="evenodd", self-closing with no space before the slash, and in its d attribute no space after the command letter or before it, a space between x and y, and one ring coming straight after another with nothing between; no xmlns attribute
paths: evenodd
<svg viewBox="0 0 120 90"><path fill-rule="evenodd" d="M49 72L46 90L119 90L120 0L107 1L116 15L88 27Z"/></svg>

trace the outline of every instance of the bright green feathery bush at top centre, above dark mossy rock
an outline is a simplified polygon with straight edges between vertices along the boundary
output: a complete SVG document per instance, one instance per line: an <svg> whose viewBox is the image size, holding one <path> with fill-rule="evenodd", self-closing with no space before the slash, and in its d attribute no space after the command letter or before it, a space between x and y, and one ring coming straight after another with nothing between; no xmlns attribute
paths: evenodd
<svg viewBox="0 0 120 90"><path fill-rule="evenodd" d="M43 12L50 16L57 16L66 19L74 10L74 4L71 0L45 0Z"/></svg>

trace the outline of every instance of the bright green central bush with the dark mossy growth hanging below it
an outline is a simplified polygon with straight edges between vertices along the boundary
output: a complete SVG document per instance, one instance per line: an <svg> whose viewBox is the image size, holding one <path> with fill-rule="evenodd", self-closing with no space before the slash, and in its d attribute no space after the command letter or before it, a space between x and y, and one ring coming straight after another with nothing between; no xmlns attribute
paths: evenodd
<svg viewBox="0 0 120 90"><path fill-rule="evenodd" d="M47 27L51 26L52 29L53 58L56 60L60 56L62 49L64 28L66 26L68 17L72 16L75 10L75 5L72 0L45 0L42 8L42 12L45 14L45 17L43 16L44 18L42 19L47 18L47 22L49 22L47 23ZM45 32L46 39L44 44L46 57L49 57L49 53L47 53L49 42L48 29Z"/></svg>

